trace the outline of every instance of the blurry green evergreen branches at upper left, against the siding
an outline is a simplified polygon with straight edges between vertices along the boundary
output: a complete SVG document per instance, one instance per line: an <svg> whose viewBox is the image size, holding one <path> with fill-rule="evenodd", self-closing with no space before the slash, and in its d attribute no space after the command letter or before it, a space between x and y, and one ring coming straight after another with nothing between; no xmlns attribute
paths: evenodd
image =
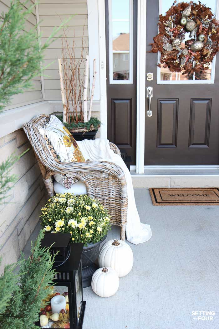
<svg viewBox="0 0 219 329"><path fill-rule="evenodd" d="M43 52L55 40L55 35L72 16L54 28L45 44L38 41L37 25L27 31L26 20L35 4L30 1L11 1L8 12L1 14L0 23L0 111L13 95L31 88L31 79L42 74Z"/></svg>

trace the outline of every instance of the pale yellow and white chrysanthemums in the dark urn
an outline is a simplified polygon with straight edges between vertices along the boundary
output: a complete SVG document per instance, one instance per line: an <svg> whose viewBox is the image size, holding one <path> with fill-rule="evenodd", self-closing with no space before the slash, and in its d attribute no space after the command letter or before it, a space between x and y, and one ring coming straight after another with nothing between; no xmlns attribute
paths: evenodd
<svg viewBox="0 0 219 329"><path fill-rule="evenodd" d="M96 243L111 224L106 209L87 195L56 194L42 208L41 225L46 232L71 233L72 242Z"/></svg>

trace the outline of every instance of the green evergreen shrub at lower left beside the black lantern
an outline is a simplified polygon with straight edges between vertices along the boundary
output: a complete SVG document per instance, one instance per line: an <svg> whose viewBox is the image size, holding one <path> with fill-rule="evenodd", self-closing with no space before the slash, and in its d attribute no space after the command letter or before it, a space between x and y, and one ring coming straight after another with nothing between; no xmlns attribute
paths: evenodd
<svg viewBox="0 0 219 329"><path fill-rule="evenodd" d="M0 328L39 328L34 322L39 319L40 308L45 307L42 300L52 292L55 275L49 248L40 247L43 236L41 230L28 259L21 255L17 276L13 273L15 266L6 266L0 276Z"/></svg>

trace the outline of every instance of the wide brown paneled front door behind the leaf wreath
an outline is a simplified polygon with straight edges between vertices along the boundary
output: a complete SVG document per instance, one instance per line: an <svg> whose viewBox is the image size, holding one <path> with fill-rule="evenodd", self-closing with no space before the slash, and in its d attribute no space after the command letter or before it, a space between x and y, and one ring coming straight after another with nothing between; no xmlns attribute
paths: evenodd
<svg viewBox="0 0 219 329"><path fill-rule="evenodd" d="M172 3L163 0L162 14ZM214 9L214 0L211 4ZM185 82L182 74L158 70L157 54L148 52L149 43L158 34L158 11L159 0L147 0L146 72L153 73L153 80L146 80L146 88L153 88L153 97L151 117L147 116L147 98L145 104L145 165L219 164L219 56L213 84L196 84L196 80L180 84ZM204 79L210 80L211 74L207 71Z"/></svg>

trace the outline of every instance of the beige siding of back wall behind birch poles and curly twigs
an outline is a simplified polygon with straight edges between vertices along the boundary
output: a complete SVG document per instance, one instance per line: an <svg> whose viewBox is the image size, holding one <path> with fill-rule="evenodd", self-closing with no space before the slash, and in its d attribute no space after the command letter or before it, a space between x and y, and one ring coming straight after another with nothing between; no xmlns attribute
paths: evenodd
<svg viewBox="0 0 219 329"><path fill-rule="evenodd" d="M88 26L87 26L87 1L86 0L41 0L39 3L39 21L41 43L44 44L50 36L55 26L59 26L62 21L74 15L67 23L68 25L68 42L72 45L73 36L75 35L75 57L80 58L82 51L82 36L84 33L85 49L83 57L89 53L88 50ZM60 36L60 31L57 36ZM46 49L44 53L43 66L49 67L44 72L44 90L45 100L61 100L58 58L62 57L61 38L57 38ZM81 65L81 75L84 74L84 64ZM77 85L78 87L78 85ZM77 89L78 92L78 89ZM88 90L88 98L90 90Z"/></svg>

